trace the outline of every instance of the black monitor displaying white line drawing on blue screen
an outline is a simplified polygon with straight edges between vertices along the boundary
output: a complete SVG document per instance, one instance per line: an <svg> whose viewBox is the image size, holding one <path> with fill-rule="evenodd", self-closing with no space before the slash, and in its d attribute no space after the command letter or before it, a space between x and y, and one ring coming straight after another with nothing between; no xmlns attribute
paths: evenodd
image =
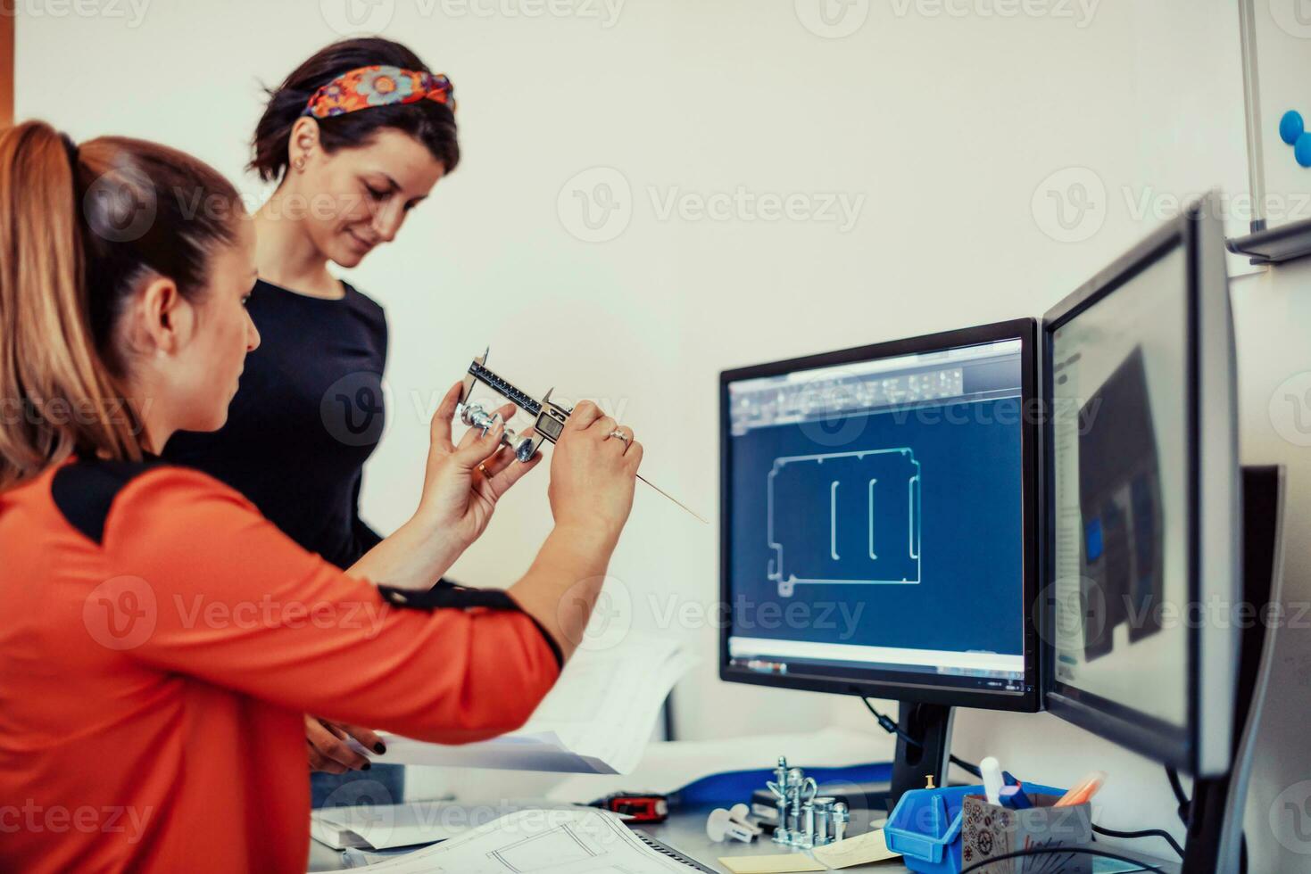
<svg viewBox="0 0 1311 874"><path fill-rule="evenodd" d="M720 375L721 679L1037 709L1036 335Z"/></svg>

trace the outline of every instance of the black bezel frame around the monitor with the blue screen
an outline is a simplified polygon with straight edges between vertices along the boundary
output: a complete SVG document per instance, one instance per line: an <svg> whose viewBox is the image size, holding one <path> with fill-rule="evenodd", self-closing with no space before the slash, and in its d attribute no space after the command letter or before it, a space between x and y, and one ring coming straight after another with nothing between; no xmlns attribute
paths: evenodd
<svg viewBox="0 0 1311 874"><path fill-rule="evenodd" d="M962 328L957 330L895 339L869 346L857 346L818 355L805 355L780 362L755 364L722 371L720 373L720 603L730 604L732 594L732 550L730 540L730 495L732 484L732 435L729 422L729 384L746 379L779 376L794 371L815 370L851 364L853 362L897 358L923 352L937 352L949 349L979 346L999 341L1020 341L1020 400L1021 400L1021 508L1024 511L1023 531L1023 609L1024 609L1024 692L998 692L995 689L969 689L957 687L910 685L888 680L852 680L823 676L779 676L734 668L729 658L730 622L720 624L720 679L726 683L746 683L808 692L830 692L836 694L856 694L871 698L885 698L916 704L937 704L947 706L981 708L990 710L1012 710L1021 713L1037 712L1041 706L1041 674L1038 659L1038 633L1034 611L1038 575L1038 439L1040 417L1037 385L1037 329L1034 318L1013 318L1008 321Z"/></svg>

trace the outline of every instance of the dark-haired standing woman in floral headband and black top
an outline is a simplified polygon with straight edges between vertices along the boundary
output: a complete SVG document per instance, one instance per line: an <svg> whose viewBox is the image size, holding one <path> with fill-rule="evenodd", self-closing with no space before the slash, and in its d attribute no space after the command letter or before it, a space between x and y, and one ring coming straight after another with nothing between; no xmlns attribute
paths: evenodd
<svg viewBox="0 0 1311 874"><path fill-rule="evenodd" d="M329 265L354 267L396 238L459 159L450 80L387 39L315 54L270 90L256 127L250 169L278 182L254 215L260 282L249 308L264 343L246 359L227 426L180 434L165 456L233 486L338 567L379 541L358 503L385 417L387 321ZM385 751L367 729L311 714L305 730L311 767L329 774L371 767L347 734ZM329 774L313 776L315 806L351 776ZM368 777L400 801L401 774L379 767Z"/></svg>

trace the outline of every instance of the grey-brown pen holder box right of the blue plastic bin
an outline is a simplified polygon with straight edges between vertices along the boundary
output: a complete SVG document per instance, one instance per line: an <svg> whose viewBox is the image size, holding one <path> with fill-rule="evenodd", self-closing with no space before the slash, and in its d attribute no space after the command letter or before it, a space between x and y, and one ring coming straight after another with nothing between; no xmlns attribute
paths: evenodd
<svg viewBox="0 0 1311 874"><path fill-rule="evenodd" d="M1092 841L1092 805L1054 807L1061 795L1027 794L1029 807L990 805L985 795L966 795L961 826L962 867L996 856L1034 848L1082 846ZM979 869L985 874L1088 874L1087 853L1019 856Z"/></svg>

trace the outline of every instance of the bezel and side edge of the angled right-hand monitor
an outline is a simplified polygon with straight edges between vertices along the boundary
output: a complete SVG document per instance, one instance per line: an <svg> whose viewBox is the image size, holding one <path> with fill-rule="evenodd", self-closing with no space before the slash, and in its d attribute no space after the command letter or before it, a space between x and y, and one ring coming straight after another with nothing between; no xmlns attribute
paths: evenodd
<svg viewBox="0 0 1311 874"><path fill-rule="evenodd" d="M1186 574L1189 580L1189 600L1205 603L1205 598L1219 592L1226 567L1232 579L1240 546L1236 544L1236 524L1239 520L1236 499L1239 494L1236 415L1224 415L1232 410L1234 351L1231 317L1228 316L1227 275L1223 261L1223 231L1218 219L1210 214L1214 202L1207 198L1192 204L1172 221L1168 221L1148 235L1133 249L1112 262L1097 275L1080 286L1065 300L1053 307L1042 318L1041 325L1041 385L1044 409L1051 410L1054 404L1053 367L1054 333L1080 313L1114 294L1118 288L1137 278L1142 271L1160 258L1181 248L1185 256L1185 305L1186 305L1186 482L1188 482L1188 542ZM1218 240L1218 244L1217 244ZM1217 245L1221 249L1217 252ZM1218 259L1218 266L1217 266ZM1218 271L1218 276L1217 276ZM1207 291L1223 292L1222 300L1209 300ZM1223 307L1223 312L1217 312ZM1203 333L1205 325L1205 333ZM1203 342L1203 337L1206 337ZM1226 345L1226 349L1217 346ZM1207 359L1210 356L1210 360ZM1203 410L1202 398L1206 398ZM1213 427L1203 428L1203 417ZM1219 418L1217 418L1219 417ZM1224 422L1223 419L1228 421ZM1045 586L1055 580L1055 478L1054 478L1054 422L1045 417L1042 423L1042 580ZM1211 472L1203 476L1207 459ZM1207 536L1202 537L1203 527ZM1210 544L1205 544L1205 540ZM1215 567L1206 570L1202 550L1214 560ZM1044 590L1046 591L1046 590ZM1232 590L1231 590L1232 591ZM1160 761L1186 773L1210 776L1223 773L1230 760L1231 704L1224 704L1224 688L1232 685L1232 668L1228 670L1211 662L1206 674L1214 688L1205 689L1202 681L1203 653L1223 651L1226 637L1232 645L1236 658L1236 633L1224 629L1188 629L1188 708L1186 725L1173 726L1158 717L1142 713L1109 698L1092 694L1083 689L1061 683L1055 671L1055 641L1053 598L1044 598L1041 605L1042 675L1046 677L1044 706L1054 715L1071 722L1092 734L1116 744L1133 750L1143 756ZM1205 639L1203 639L1205 638ZM1223 660L1223 659L1221 659ZM1203 721L1205 714L1205 721Z"/></svg>

